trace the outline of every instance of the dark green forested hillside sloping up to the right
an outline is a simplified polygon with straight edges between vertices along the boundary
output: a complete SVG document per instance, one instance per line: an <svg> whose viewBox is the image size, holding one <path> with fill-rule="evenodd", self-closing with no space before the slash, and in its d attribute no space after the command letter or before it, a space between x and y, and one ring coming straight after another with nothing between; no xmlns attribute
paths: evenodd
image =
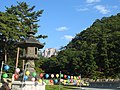
<svg viewBox="0 0 120 90"><path fill-rule="evenodd" d="M97 19L41 68L94 79L120 77L120 13Z"/></svg>

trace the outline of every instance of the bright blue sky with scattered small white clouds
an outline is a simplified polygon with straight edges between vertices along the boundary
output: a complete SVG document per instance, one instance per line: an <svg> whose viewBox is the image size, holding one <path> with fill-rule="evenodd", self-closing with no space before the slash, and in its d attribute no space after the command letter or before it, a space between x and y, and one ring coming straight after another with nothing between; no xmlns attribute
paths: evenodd
<svg viewBox="0 0 120 90"><path fill-rule="evenodd" d="M35 5L35 11L44 10L36 34L48 36L40 39L46 43L43 49L60 49L96 19L120 13L120 0L0 0L0 11L4 12L5 6L17 5L16 1Z"/></svg>

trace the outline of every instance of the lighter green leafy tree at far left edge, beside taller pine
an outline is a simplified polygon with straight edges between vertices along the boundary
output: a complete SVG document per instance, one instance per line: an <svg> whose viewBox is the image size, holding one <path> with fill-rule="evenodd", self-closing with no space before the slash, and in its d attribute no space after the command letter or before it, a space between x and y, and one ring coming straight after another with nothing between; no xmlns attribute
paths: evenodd
<svg viewBox="0 0 120 90"><path fill-rule="evenodd" d="M21 33L17 29L18 18L15 15L0 12L0 52L1 59L7 62L9 58L14 58L14 43L18 41ZM13 51L12 51L13 50Z"/></svg>

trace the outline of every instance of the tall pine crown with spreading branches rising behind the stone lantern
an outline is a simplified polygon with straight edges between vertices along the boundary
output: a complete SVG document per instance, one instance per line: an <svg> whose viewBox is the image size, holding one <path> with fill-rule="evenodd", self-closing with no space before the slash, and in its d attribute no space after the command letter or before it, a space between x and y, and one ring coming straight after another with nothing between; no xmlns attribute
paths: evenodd
<svg viewBox="0 0 120 90"><path fill-rule="evenodd" d="M6 7L6 12L9 14L14 14L18 16L20 25L19 30L22 32L23 36L26 37L26 33L31 30L31 28L37 32L39 25L39 17L41 17L43 10L34 11L35 6L29 7L26 2L17 2L18 5L11 5L10 8ZM45 35L38 35L37 38L46 38Z"/></svg>

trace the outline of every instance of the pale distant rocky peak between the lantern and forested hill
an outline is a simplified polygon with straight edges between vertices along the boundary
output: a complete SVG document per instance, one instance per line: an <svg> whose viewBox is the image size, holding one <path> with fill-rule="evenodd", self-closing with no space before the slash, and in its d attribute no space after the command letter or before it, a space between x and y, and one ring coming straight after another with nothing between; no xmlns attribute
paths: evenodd
<svg viewBox="0 0 120 90"><path fill-rule="evenodd" d="M55 48L47 48L42 53L42 56L48 57L48 58L53 55L57 55L57 50Z"/></svg>

